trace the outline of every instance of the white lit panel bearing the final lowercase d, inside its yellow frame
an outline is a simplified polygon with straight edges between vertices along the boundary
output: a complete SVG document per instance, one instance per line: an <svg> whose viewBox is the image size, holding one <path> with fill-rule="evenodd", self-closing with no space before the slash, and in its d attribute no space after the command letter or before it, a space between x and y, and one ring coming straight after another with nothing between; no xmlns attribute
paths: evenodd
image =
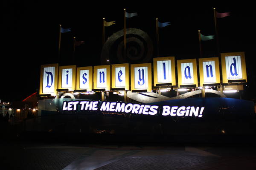
<svg viewBox="0 0 256 170"><path fill-rule="evenodd" d="M226 56L227 79L242 79L241 56Z"/></svg>

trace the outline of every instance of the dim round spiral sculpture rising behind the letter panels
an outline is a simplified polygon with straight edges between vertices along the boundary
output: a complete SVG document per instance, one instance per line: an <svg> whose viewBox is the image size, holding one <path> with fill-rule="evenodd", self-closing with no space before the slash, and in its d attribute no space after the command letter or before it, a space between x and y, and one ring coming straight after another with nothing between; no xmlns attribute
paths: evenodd
<svg viewBox="0 0 256 170"><path fill-rule="evenodd" d="M126 29L126 57L124 57L124 31L114 33L105 42L101 53L101 64L151 62L153 43L144 31L137 28Z"/></svg>

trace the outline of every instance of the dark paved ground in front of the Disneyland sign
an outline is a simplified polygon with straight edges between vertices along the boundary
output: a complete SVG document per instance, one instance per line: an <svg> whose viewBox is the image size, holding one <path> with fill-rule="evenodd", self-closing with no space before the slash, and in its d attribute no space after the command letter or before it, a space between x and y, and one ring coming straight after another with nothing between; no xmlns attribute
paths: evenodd
<svg viewBox="0 0 256 170"><path fill-rule="evenodd" d="M3 170L256 170L249 143L104 142L2 135Z"/></svg>

